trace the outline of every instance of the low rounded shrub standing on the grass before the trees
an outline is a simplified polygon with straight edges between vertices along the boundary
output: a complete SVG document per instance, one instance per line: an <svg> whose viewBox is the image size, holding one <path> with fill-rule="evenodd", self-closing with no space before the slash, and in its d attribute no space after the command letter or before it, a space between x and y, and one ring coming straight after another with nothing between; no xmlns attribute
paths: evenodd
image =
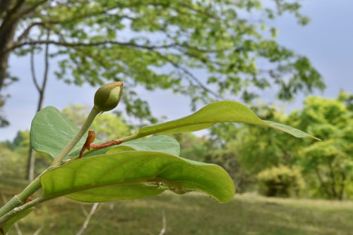
<svg viewBox="0 0 353 235"><path fill-rule="evenodd" d="M258 173L260 192L265 196L299 196L305 183L297 168L289 168L284 165L272 167Z"/></svg>

